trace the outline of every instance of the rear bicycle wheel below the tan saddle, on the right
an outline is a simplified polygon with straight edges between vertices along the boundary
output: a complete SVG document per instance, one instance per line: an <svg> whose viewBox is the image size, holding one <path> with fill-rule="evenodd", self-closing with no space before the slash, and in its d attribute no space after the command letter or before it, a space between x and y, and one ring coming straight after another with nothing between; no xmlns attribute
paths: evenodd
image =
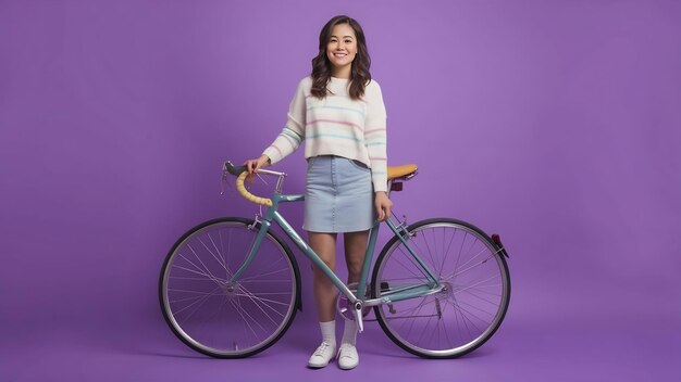
<svg viewBox="0 0 681 382"><path fill-rule="evenodd" d="M374 307L388 338L425 358L455 358L485 343L497 330L510 297L508 266L499 247L479 228L435 218L407 228L408 243L445 288L441 292ZM405 244L394 237L372 275L372 296L428 279Z"/></svg>

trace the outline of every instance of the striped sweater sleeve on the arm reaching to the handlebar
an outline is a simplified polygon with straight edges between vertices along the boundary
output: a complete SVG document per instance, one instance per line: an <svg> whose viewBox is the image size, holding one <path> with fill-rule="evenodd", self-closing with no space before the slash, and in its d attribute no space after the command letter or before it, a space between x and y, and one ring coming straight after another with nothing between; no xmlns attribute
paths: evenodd
<svg viewBox="0 0 681 382"><path fill-rule="evenodd" d="M270 157L270 163L275 164L296 151L305 139L306 115L306 79L298 84L296 94L288 105L288 119L286 126L262 154Z"/></svg>

